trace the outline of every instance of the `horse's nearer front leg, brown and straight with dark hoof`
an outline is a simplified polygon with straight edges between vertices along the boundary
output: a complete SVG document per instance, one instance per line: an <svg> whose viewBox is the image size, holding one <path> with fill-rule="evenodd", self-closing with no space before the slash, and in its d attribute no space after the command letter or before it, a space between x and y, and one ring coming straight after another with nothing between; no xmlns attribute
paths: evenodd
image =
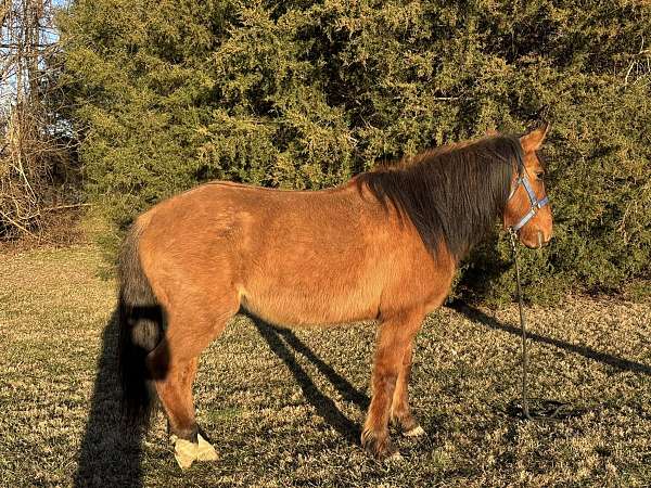
<svg viewBox="0 0 651 488"><path fill-rule="evenodd" d="M372 378L373 398L361 433L363 448L380 459L396 452L388 437L391 407L405 354L422 320L422 312L409 311L388 316L380 325Z"/></svg>

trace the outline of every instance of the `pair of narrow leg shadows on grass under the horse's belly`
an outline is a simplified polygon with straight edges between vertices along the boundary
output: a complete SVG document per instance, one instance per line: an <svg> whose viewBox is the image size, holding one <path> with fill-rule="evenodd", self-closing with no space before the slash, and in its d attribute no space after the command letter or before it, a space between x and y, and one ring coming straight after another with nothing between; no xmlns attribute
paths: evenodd
<svg viewBox="0 0 651 488"><path fill-rule="evenodd" d="M307 347L296 335L286 329L276 329L267 322L248 316L260 333L260 336L269 345L270 349L285 363L303 395L307 401L315 408L317 414L326 423L331 425L343 438L350 444L359 444L361 429L359 424L348 419L334 403L334 401L323 395L309 374L296 360L295 354L303 355L319 372L326 376L330 383L337 389L340 395L347 401L352 401L359 409L366 411L370 403L369 397L353 386L346 378L341 376L334 369L327 364L321 358Z"/></svg>

